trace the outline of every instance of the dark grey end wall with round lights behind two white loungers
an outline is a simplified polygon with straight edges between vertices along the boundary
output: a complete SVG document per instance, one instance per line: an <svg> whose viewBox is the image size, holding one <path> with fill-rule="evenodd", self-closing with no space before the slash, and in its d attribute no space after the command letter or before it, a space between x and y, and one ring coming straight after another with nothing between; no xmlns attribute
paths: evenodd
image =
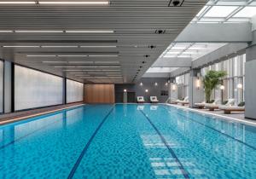
<svg viewBox="0 0 256 179"><path fill-rule="evenodd" d="M166 85L168 78L141 78L137 84L115 84L115 96L116 102L122 102L122 95L124 90L128 92L135 92L135 96L144 96L146 102L150 102L150 96L157 96L160 102L165 102L168 95L161 95L161 90L168 91L168 86ZM143 86L140 85L143 83ZM154 83L158 85L155 86ZM145 92L148 90L148 93ZM137 100L136 100L137 101Z"/></svg>

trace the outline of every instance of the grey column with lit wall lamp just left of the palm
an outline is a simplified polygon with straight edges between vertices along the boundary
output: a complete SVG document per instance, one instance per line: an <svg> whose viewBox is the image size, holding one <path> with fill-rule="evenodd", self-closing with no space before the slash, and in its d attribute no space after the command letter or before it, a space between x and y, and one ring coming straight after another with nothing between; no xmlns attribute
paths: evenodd
<svg viewBox="0 0 256 179"><path fill-rule="evenodd" d="M196 102L204 100L204 90L201 83L200 69L189 72L189 107L195 107Z"/></svg>

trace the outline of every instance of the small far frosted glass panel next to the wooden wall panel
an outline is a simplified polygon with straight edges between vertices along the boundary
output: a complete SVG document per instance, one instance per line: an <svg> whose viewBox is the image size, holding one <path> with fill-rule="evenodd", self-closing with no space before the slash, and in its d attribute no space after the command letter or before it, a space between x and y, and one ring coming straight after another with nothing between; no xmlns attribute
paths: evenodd
<svg viewBox="0 0 256 179"><path fill-rule="evenodd" d="M84 101L84 84L67 79L67 103Z"/></svg>

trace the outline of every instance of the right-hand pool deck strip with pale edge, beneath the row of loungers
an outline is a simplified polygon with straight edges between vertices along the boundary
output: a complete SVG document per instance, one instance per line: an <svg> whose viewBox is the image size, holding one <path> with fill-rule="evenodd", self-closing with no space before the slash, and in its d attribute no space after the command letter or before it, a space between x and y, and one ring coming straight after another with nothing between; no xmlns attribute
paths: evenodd
<svg viewBox="0 0 256 179"><path fill-rule="evenodd" d="M244 112L232 112L230 114L225 114L223 110L219 110L219 109L216 109L214 111L209 111L206 108L204 108L204 109L191 108L188 105L186 105L186 106L181 106L181 105L178 105L178 104L167 104L167 105L172 106L172 107L179 107L179 108L183 108L183 109L188 109L190 111L194 111L194 112L197 112L197 113L210 114L210 115L216 116L218 118L224 118L224 119L228 119L228 120L231 120L231 121L236 121L236 122L239 122L239 123L256 126L256 120L245 118Z"/></svg>

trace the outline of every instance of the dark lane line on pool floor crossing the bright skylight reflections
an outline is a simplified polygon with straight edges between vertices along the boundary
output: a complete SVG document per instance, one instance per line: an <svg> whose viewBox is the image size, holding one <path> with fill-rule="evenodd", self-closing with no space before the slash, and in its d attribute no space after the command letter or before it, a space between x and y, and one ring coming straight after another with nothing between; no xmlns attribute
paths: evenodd
<svg viewBox="0 0 256 179"><path fill-rule="evenodd" d="M157 134L160 136L160 139L162 142L165 143L166 147L168 148L169 152L172 154L172 157L175 159L177 165L178 165L178 168L179 170L182 171L183 173L183 176L185 178L189 178L189 172L186 171L182 165L182 163L179 161L179 159L177 159L177 155L174 153L174 151L172 150L172 147L170 147L165 139L164 136L161 135L160 131L156 128L156 126L153 124L153 122L150 120L150 118L148 118L148 116L142 111L142 110L139 110L141 113L143 113L143 115L145 116L145 118L148 119L148 122L152 125L152 127L154 128L154 130L157 132Z"/></svg>

